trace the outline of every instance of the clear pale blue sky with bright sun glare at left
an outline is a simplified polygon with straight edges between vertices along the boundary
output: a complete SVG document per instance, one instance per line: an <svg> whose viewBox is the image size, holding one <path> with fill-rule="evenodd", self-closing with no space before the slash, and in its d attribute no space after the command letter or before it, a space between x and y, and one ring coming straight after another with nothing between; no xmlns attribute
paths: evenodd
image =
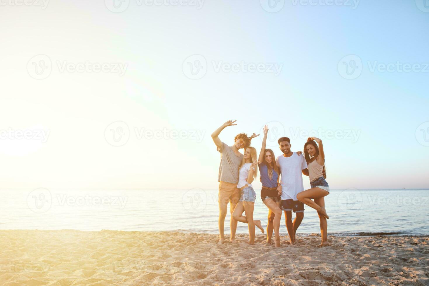
<svg viewBox="0 0 429 286"><path fill-rule="evenodd" d="M426 6L0 0L0 189L215 189L227 120L321 138L332 189L429 188Z"/></svg>

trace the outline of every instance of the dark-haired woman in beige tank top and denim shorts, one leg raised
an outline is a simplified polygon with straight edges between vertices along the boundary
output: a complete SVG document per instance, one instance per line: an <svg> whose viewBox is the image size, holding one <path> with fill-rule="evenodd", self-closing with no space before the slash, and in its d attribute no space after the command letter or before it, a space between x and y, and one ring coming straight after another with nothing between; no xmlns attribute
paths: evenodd
<svg viewBox="0 0 429 286"><path fill-rule="evenodd" d="M319 147L317 147L317 144ZM304 157L308 165L308 176L310 177L311 189L305 190L296 196L296 198L314 208L317 211L320 219L320 233L322 235L321 247L329 244L327 237L329 219L325 209L324 197L329 195L329 185L323 177L325 170L325 153L323 152L322 140L316 137L308 137L307 143L304 145ZM314 199L312 201L311 199Z"/></svg>

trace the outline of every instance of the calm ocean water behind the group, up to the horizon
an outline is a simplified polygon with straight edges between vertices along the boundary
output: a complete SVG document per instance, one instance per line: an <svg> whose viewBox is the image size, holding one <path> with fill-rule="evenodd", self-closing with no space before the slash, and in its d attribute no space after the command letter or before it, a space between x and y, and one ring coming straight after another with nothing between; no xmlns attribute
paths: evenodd
<svg viewBox="0 0 429 286"><path fill-rule="evenodd" d="M259 193L254 219L267 223ZM218 190L1 190L0 229L179 231L218 233ZM331 190L328 234L429 235L429 190ZM229 209L229 208L228 208ZM230 213L225 220L229 229ZM247 233L239 223L237 233ZM287 233L282 215L281 233ZM297 233L319 233L305 206ZM260 233L257 229L256 233Z"/></svg>

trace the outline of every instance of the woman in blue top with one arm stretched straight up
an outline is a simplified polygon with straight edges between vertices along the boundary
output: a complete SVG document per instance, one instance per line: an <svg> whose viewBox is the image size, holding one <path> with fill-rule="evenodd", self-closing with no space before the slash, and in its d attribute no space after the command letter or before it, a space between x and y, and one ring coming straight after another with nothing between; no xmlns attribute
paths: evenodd
<svg viewBox="0 0 429 286"><path fill-rule="evenodd" d="M274 152L265 149L268 134L268 126L264 126L264 138L262 148L258 158L259 172L261 174L262 202L268 207L267 243L271 243L272 232L274 230L275 247L280 247L280 220L281 209L281 184L278 182L280 176L280 166L275 162Z"/></svg>

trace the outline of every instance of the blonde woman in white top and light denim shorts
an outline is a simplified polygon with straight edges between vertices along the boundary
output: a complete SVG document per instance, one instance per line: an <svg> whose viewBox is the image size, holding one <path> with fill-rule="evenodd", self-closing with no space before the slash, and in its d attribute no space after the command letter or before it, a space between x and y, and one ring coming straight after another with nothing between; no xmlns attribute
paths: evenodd
<svg viewBox="0 0 429 286"><path fill-rule="evenodd" d="M257 163L258 158L256 155L256 149L253 147L245 148L243 160L239 166L239 183L237 184L237 188L241 191L241 198L233 211L234 220L248 224L248 244L252 245L255 244L255 226L257 226L261 232L264 233L264 229L261 226L261 221L253 219L256 193L252 187L252 182L257 176ZM242 216L243 211L245 212L245 217Z"/></svg>

